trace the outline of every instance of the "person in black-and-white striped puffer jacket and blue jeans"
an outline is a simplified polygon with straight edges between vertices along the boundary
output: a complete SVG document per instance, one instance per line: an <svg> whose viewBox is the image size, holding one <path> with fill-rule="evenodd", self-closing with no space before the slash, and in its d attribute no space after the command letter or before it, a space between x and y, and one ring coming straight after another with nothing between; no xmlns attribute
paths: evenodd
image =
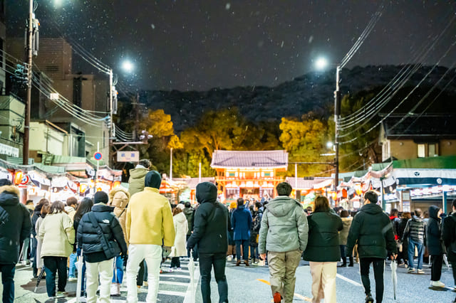
<svg viewBox="0 0 456 303"><path fill-rule="evenodd" d="M425 273L423 270L423 255L425 253L425 221L423 218L420 218L420 216L420 208L415 209L415 216L408 220L403 234L403 239L406 238L408 240L408 273L415 272L415 262L413 261L415 247L418 250L416 273Z"/></svg>

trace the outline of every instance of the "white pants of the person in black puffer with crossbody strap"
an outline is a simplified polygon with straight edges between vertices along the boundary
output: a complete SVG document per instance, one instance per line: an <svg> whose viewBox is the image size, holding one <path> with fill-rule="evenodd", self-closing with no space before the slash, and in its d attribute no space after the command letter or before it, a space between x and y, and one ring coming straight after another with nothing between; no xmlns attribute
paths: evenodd
<svg viewBox="0 0 456 303"><path fill-rule="evenodd" d="M87 302L97 302L98 274L100 274L100 300L98 302L110 302L110 287L113 280L113 260L89 263L86 262L87 277Z"/></svg>

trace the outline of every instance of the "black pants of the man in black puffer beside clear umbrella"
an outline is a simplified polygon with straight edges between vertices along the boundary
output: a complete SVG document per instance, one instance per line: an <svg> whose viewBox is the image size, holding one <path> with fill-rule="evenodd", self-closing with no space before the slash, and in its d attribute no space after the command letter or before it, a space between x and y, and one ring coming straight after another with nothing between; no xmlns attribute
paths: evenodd
<svg viewBox="0 0 456 303"><path fill-rule="evenodd" d="M371 280L369 280L369 267L373 265L373 277L375 278L375 302L383 300L383 270L385 270L385 260L378 257L363 257L359 261L359 271L361 282L363 282L366 294L371 293Z"/></svg>

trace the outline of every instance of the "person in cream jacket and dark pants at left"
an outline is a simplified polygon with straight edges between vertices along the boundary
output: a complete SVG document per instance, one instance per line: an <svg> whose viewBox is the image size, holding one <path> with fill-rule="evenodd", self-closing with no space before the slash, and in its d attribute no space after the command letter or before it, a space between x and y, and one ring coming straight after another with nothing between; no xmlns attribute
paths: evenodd
<svg viewBox="0 0 456 303"><path fill-rule="evenodd" d="M40 225L38 238L43 241L41 257L46 270L46 291L48 297L65 296L66 260L73 252L75 240L73 222L65 213L62 201L55 201ZM58 289L56 293L56 272Z"/></svg>

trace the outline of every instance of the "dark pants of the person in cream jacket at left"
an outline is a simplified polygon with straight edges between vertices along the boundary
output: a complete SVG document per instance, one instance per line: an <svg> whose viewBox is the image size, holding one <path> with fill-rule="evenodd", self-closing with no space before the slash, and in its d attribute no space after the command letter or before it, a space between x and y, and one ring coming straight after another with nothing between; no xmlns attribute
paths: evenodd
<svg viewBox="0 0 456 303"><path fill-rule="evenodd" d="M43 257L48 297L56 296L56 272L58 272L58 292L65 292L66 260L66 257Z"/></svg>

